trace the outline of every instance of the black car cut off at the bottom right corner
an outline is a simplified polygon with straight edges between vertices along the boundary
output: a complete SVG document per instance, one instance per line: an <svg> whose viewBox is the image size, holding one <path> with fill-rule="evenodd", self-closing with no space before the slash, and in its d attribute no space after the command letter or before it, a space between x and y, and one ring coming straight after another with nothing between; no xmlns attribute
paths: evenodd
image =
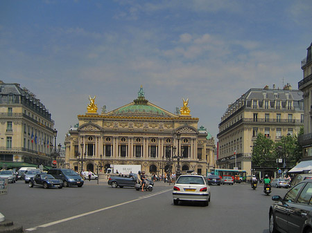
<svg viewBox="0 0 312 233"><path fill-rule="evenodd" d="M307 179L289 190L284 198L272 196L269 230L273 232L312 232L312 180Z"/></svg>

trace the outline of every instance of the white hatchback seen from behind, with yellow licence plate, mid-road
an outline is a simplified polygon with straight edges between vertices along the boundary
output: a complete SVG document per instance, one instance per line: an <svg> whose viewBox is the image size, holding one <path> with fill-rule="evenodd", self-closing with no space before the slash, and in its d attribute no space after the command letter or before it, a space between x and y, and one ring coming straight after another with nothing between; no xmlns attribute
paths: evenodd
<svg viewBox="0 0 312 233"><path fill-rule="evenodd" d="M173 187L174 205L177 205L179 201L202 201L207 206L210 196L210 187L203 176L179 176Z"/></svg>

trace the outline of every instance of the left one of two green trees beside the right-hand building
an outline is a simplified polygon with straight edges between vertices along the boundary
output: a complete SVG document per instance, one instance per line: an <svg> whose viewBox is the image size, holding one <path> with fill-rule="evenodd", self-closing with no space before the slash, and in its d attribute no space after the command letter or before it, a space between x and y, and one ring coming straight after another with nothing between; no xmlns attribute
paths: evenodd
<svg viewBox="0 0 312 233"><path fill-rule="evenodd" d="M252 165L255 167L272 167L275 164L274 142L258 133L252 148Z"/></svg>

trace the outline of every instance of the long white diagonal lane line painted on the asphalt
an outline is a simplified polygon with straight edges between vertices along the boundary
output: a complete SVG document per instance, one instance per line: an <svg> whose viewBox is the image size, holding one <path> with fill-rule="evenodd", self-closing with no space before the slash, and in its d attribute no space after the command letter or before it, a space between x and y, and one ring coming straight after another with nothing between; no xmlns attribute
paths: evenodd
<svg viewBox="0 0 312 233"><path fill-rule="evenodd" d="M156 195L159 195L159 194L163 194L165 192L168 192L168 191L171 191L172 189L167 189L167 190L164 190L164 191L161 191L161 192L157 192L155 194L149 194L149 195L146 195L146 196L140 196L139 198L137 199L134 199L134 200L131 200L131 201L126 201L124 203L119 203L119 204L116 204L116 205L111 205L111 206L108 206L108 207L105 207L105 208L102 208L102 209L96 209L94 211L90 211L90 212L87 212L87 213L83 213L83 214L78 214L78 215L75 215L75 216L71 216L69 218L64 218L64 219L61 219L61 220L58 220L58 221L54 221L54 222L51 222L51 223L46 223L46 224L43 224L43 225L38 225L37 227L31 227L31 228L28 228L26 229L26 231L28 232L31 232L33 230L37 230L38 227L50 227L51 225L56 225L56 224L59 224L59 223L64 223L66 221L70 221L70 220L73 220L75 218L80 218L80 217L83 217L83 216L87 216L89 214L95 214L95 213L98 213L98 212L101 212L103 210L106 210L106 209L112 209L114 207L119 207L121 205L126 205L126 204L129 204L129 203L133 203L135 201L140 201L144 198L150 198L152 196L156 196Z"/></svg>

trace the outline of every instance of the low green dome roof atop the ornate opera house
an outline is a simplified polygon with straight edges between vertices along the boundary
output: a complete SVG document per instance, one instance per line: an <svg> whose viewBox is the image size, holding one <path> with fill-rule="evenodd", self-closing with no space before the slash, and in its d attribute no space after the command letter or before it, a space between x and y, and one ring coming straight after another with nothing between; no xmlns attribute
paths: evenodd
<svg viewBox="0 0 312 233"><path fill-rule="evenodd" d="M114 115L132 115L132 116L148 116L148 117L167 117L168 115L157 109L155 106L145 104L133 104L118 109Z"/></svg>

